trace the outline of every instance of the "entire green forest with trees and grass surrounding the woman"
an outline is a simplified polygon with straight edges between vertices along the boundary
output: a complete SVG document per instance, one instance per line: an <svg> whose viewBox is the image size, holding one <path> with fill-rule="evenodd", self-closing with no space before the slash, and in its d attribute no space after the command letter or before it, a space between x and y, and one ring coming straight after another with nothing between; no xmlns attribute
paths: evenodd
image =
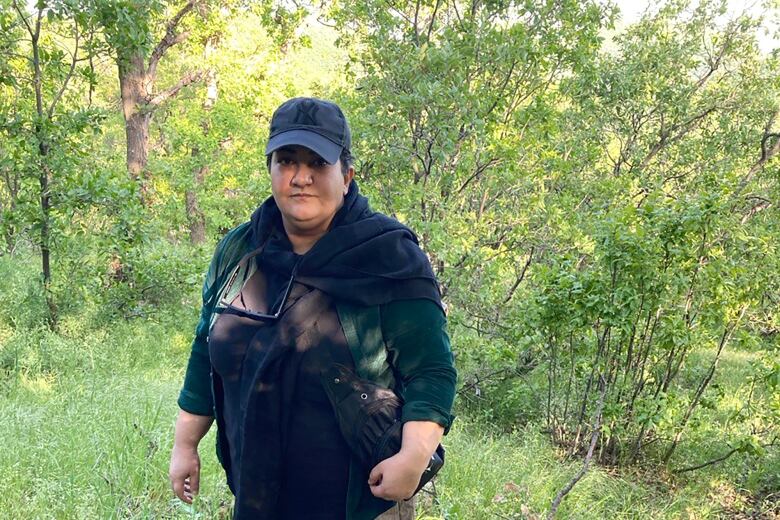
<svg viewBox="0 0 780 520"><path fill-rule="evenodd" d="M417 518L780 518L780 4L741 8L0 0L0 516L231 517L213 431L170 490L176 398L314 96L448 308Z"/></svg>

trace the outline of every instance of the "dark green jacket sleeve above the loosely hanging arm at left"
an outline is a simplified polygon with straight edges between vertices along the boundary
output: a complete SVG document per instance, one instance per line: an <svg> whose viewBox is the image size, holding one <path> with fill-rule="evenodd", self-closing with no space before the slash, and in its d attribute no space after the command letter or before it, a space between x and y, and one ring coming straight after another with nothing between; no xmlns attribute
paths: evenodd
<svg viewBox="0 0 780 520"><path fill-rule="evenodd" d="M214 395L211 392L211 361L209 360L208 335L216 292L232 264L243 253L244 233L247 224L229 231L217 244L206 279L203 282L200 320L195 327L195 339L184 375L184 386L179 393L179 408L196 415L214 415Z"/></svg>

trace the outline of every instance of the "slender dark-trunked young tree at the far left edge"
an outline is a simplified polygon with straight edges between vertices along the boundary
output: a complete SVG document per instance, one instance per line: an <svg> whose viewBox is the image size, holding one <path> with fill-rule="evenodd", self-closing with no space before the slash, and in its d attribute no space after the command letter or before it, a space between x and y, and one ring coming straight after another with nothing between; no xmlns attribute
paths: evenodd
<svg viewBox="0 0 780 520"><path fill-rule="evenodd" d="M18 147L18 151L12 156L17 161L6 165L6 187L15 218L29 218L38 232L36 244L41 253L49 324L53 326L57 319L57 307L51 293L56 194L79 155L73 153L74 139L78 139L84 130L96 128L100 119L96 111L79 102L78 96L70 97L74 81L84 83L86 79L89 83L89 76L81 74L79 64L88 61L94 52L85 45L85 40L91 40L91 27L84 5L78 2L52 2L49 5L39 2L33 14L16 0L4 8L13 10L16 16L11 23L29 36L29 40L16 42L12 47L18 49L13 57L23 64L23 68L14 68L15 77L11 76L8 81L16 101L12 105L15 114L14 123L8 129L12 135L8 144ZM4 23L10 22L7 11L3 19ZM18 29L9 34L10 39L18 35ZM66 104L67 108L63 108ZM27 136L32 136L32 143ZM34 148L29 148L30 144L34 144ZM8 168L13 168L14 173L8 172ZM28 176L37 178L39 211L20 216L23 177Z"/></svg>

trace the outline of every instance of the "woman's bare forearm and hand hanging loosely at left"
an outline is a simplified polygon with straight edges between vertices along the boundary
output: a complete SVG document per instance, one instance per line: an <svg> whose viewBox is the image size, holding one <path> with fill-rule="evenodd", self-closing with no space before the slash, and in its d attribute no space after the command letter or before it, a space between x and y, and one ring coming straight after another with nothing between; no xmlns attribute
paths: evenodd
<svg viewBox="0 0 780 520"><path fill-rule="evenodd" d="M198 444L209 431L213 417L179 411L173 436L171 465L168 478L171 488L179 499L192 504L192 498L200 487L200 456Z"/></svg>

